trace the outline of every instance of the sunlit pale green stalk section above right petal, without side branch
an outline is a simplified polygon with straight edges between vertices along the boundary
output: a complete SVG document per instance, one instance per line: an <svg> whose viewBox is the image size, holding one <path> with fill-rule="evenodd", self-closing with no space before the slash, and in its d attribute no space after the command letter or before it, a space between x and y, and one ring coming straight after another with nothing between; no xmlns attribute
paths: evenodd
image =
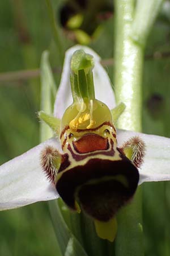
<svg viewBox="0 0 170 256"><path fill-rule="evenodd" d="M118 127L141 131L141 76L143 49L131 39L134 0L116 1L116 47L114 86L117 104L124 102L125 112Z"/></svg>

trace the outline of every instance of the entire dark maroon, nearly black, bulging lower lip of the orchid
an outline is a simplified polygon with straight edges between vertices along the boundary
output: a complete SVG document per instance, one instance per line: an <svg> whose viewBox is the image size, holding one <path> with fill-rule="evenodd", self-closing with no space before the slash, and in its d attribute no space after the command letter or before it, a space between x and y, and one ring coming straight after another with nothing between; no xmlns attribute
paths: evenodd
<svg viewBox="0 0 170 256"><path fill-rule="evenodd" d="M63 201L75 210L75 200L79 200L86 213L97 220L112 218L133 197L139 181L138 169L121 152L120 155L122 160L90 159L84 166L63 172L56 184ZM123 175L128 187L113 180L116 175ZM105 181L104 177L111 179ZM89 181L94 181L94 184L87 184Z"/></svg>

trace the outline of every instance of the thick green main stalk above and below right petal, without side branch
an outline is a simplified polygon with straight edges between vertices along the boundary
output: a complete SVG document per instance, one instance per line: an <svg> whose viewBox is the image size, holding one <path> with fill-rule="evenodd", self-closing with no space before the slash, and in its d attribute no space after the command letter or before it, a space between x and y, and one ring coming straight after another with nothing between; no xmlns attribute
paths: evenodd
<svg viewBox="0 0 170 256"><path fill-rule="evenodd" d="M122 4L120 3L122 2ZM125 103L125 112L118 120L118 128L141 131L141 76L143 49L130 38L134 1L116 2L116 69L115 92L117 103ZM116 256L143 256L141 191L133 203L118 214Z"/></svg>

